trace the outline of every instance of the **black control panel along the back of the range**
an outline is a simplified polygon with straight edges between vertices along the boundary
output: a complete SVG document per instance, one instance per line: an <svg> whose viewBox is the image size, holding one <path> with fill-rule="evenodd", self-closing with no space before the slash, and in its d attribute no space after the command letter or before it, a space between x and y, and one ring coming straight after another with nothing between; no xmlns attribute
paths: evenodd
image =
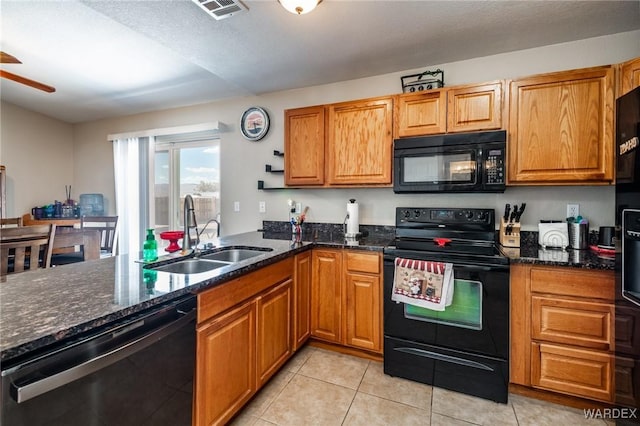
<svg viewBox="0 0 640 426"><path fill-rule="evenodd" d="M437 225L487 225L495 224L493 209L467 208L432 208L432 207L397 207L396 226L425 224Z"/></svg>

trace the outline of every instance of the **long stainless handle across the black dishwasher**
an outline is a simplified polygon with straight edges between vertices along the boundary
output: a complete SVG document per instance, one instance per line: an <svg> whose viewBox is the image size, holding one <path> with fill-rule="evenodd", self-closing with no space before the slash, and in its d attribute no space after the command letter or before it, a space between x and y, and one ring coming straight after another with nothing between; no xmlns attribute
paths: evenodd
<svg viewBox="0 0 640 426"><path fill-rule="evenodd" d="M81 364L75 365L59 373L45 377L37 382L29 383L24 386L16 386L15 383L11 383L11 395L17 403L28 401L32 398L49 392L50 390L59 388L71 383L74 380L78 380L84 376L94 373L102 368L105 368L115 362L118 362L148 346L151 346L160 339L169 336L174 331L187 325L196 317L196 309L193 309L184 314L179 319L170 322L169 324L153 330L151 333L145 334L138 339L132 340L123 346L113 349L109 352L105 352L85 361Z"/></svg>

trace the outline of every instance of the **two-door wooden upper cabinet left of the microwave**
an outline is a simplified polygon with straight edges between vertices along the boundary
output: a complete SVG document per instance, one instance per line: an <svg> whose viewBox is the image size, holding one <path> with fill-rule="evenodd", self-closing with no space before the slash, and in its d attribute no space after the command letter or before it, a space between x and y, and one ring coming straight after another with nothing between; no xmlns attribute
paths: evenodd
<svg viewBox="0 0 640 426"><path fill-rule="evenodd" d="M393 98L285 111L285 184L391 184Z"/></svg>

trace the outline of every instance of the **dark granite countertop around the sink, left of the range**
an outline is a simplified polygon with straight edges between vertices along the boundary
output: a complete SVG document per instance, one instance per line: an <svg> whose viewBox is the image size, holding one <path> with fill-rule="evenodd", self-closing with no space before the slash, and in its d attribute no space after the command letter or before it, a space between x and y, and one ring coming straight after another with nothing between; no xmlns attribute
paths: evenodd
<svg viewBox="0 0 640 426"><path fill-rule="evenodd" d="M386 227L371 227L355 240L345 240L333 229L309 228L301 235L291 234L290 228L283 231L265 229L220 238L216 247L258 246L272 251L200 274L158 272L150 287L139 253L8 275L0 283L0 361L198 293L313 246L382 251L393 239ZM167 259L172 256L161 258Z"/></svg>

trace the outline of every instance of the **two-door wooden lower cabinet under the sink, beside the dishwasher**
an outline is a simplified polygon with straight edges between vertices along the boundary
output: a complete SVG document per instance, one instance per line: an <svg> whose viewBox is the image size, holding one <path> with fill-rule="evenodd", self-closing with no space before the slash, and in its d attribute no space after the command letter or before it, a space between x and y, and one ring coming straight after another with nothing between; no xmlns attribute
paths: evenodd
<svg viewBox="0 0 640 426"><path fill-rule="evenodd" d="M294 259L198 295L194 425L225 424L293 354Z"/></svg>

